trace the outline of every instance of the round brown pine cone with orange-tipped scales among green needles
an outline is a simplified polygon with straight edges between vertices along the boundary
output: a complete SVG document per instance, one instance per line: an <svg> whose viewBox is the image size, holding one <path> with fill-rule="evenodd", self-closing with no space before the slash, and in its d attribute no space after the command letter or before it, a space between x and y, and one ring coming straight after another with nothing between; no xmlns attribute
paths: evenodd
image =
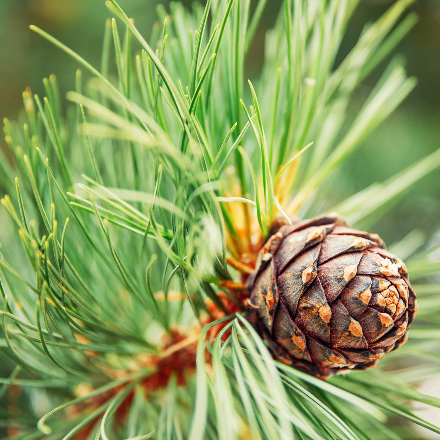
<svg viewBox="0 0 440 440"><path fill-rule="evenodd" d="M417 312L403 261L337 214L274 224L249 277L248 318L275 357L326 378L374 367Z"/></svg>

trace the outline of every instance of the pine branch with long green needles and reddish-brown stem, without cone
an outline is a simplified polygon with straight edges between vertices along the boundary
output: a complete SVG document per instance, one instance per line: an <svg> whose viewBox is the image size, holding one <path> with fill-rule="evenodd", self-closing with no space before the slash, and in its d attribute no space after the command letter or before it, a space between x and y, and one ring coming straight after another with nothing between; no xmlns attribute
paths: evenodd
<svg viewBox="0 0 440 440"><path fill-rule="evenodd" d="M318 215L337 169L415 86L395 57L348 122L359 84L414 26L411 0L339 66L358 0L286 0L246 84L269 3L158 7L148 42L107 1L100 70L31 26L86 75L65 113L51 75L45 97L23 93L18 123L4 120L4 438L399 439L403 420L407 438L414 423L440 433L411 410L440 407L413 387L440 365L438 245L417 232L392 250L408 257L421 312L377 370L315 378L274 360L244 317L274 221ZM334 209L368 227L439 166L436 151Z"/></svg>

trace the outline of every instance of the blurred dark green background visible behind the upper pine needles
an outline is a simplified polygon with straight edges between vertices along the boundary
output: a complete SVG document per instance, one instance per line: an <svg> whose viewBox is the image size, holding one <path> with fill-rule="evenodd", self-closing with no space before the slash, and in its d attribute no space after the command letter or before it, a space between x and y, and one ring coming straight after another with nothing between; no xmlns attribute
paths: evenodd
<svg viewBox="0 0 440 440"><path fill-rule="evenodd" d="M156 19L154 0L120 0L145 36ZM162 2L167 6L167 2ZM188 7L191 1L184 1ZM275 20L281 0L269 0L260 32L249 53L248 72L255 76L262 63L265 30ZM339 59L356 43L363 25L377 19L392 0L363 0L348 28ZM411 7L419 22L396 52L407 59L418 86L402 106L352 155L335 176L334 202L410 166L439 147L440 139L440 1L416 0ZM21 108L21 93L29 86L44 94L42 78L58 77L62 93L74 86L77 64L47 41L32 33L35 24L51 33L85 59L99 66L104 21L103 0L0 0L0 116L14 119ZM387 60L389 61L389 59ZM364 81L357 98L365 97L383 71ZM359 108L356 98L353 115ZM387 243L399 240L414 227L432 235L440 229L440 172L417 183L371 229Z"/></svg>

